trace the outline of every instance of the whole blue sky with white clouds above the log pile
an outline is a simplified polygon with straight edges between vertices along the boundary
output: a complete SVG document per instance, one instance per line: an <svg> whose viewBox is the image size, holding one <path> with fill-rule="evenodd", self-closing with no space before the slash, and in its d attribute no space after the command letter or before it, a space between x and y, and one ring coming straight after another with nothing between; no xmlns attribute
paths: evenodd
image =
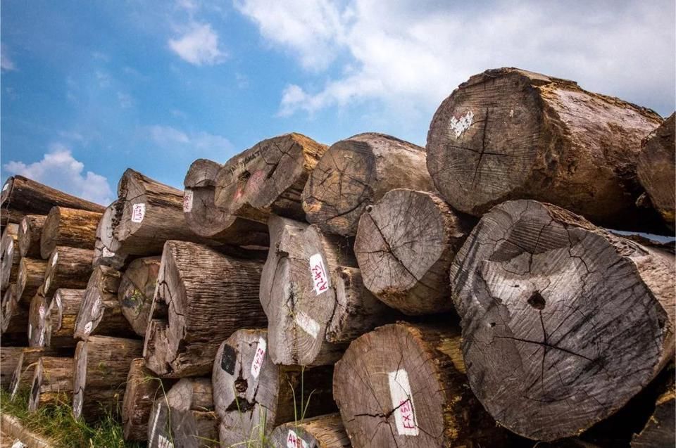
<svg viewBox="0 0 676 448"><path fill-rule="evenodd" d="M425 144L434 110L517 66L669 115L673 0L3 1L1 176L107 203L133 167L181 187L301 132Z"/></svg>

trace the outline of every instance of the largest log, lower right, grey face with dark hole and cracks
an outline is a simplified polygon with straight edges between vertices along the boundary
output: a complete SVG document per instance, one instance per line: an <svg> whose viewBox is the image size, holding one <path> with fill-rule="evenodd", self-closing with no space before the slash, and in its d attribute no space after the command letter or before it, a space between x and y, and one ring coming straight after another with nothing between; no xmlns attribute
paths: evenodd
<svg viewBox="0 0 676 448"><path fill-rule="evenodd" d="M451 266L472 390L538 440L613 414L673 357L674 266L553 205L494 207Z"/></svg>

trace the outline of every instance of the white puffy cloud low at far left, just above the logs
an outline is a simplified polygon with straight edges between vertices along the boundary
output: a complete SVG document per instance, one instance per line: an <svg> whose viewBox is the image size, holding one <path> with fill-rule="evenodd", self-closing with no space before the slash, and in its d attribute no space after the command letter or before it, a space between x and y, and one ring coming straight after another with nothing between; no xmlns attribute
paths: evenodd
<svg viewBox="0 0 676 448"><path fill-rule="evenodd" d="M94 172L84 171L84 164L73 158L70 150L60 143L50 146L42 160L26 165L11 161L3 165L8 174L35 179L66 193L73 194L95 203L108 205L112 202L113 191L108 180Z"/></svg>

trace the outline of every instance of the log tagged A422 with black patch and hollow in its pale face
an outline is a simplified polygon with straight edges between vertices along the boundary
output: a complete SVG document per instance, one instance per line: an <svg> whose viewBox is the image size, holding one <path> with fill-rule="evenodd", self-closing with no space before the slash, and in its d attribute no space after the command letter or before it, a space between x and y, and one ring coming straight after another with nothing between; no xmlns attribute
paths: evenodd
<svg viewBox="0 0 676 448"><path fill-rule="evenodd" d="M220 442L246 445L275 426L334 411L333 367L273 364L267 331L238 330L220 345L211 381ZM258 446L254 444L254 446Z"/></svg>

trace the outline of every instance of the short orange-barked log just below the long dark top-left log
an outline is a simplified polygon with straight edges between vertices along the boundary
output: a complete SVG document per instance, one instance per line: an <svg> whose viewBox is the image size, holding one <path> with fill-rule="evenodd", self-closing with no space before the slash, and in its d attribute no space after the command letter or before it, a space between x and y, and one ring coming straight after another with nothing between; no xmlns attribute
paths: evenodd
<svg viewBox="0 0 676 448"><path fill-rule="evenodd" d="M96 227L103 214L74 208L52 207L42 226L40 255L49 257L56 246L94 250Z"/></svg>

